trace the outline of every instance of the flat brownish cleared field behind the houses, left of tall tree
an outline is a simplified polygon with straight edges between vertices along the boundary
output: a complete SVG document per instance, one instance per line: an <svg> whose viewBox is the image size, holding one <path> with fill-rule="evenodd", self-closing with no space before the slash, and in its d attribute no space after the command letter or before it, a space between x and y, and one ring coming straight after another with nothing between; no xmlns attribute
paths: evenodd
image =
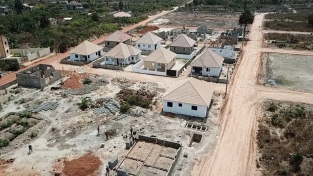
<svg viewBox="0 0 313 176"><path fill-rule="evenodd" d="M207 14L207 13L187 13L187 12L172 12L162 17L168 19L168 25L180 25L180 26L200 26L205 25L209 28L233 28L239 27L238 14Z"/></svg>

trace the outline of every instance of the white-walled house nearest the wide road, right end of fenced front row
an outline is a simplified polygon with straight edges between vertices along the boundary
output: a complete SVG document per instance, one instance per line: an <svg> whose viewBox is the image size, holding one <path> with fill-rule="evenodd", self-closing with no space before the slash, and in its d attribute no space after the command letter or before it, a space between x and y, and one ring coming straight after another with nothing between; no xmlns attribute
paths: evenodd
<svg viewBox="0 0 313 176"><path fill-rule="evenodd" d="M199 54L190 64L191 74L218 77L223 67L224 58L211 49Z"/></svg>

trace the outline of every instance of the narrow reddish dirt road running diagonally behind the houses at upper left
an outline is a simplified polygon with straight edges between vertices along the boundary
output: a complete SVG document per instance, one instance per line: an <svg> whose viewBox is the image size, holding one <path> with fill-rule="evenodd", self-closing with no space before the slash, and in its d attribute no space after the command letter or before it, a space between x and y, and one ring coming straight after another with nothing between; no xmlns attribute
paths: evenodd
<svg viewBox="0 0 313 176"><path fill-rule="evenodd" d="M150 22L150 21L152 21L152 20L155 20L156 18L161 17L161 16L163 16L163 15L165 15L165 14L167 14L167 13L170 13L170 12L172 12L172 11L174 11L174 10L162 11L161 13L156 14L156 15L154 15L154 16L149 16L148 19L146 19L146 20L144 20L144 21L142 21L142 22L136 23L136 24L134 24L134 25L127 26L127 27L123 28L121 31L127 32L127 31L129 31L129 30L132 30L132 29L134 29L134 28L140 26L140 25L146 25L147 22ZM94 43L94 44L99 44L99 43L103 42L103 40L106 39L108 36L109 36L109 35L103 36L103 37L101 37L101 38L99 38L99 39L97 39L97 40L95 40L95 41L92 41L92 43ZM51 57L51 58L44 59L44 60L34 61L32 64L29 64L26 68L31 67L31 66L34 66L34 65L37 65L37 64L52 64L52 63L55 63L55 62L59 63L61 59L65 58L65 57L67 57L67 56L69 55L68 52L69 52L69 51L67 51L66 53L57 55L57 56L55 56L55 57ZM24 69L26 69L26 68L24 68ZM21 69L21 70L19 70L19 71L22 71L22 70L23 70L23 69ZM17 72L19 72L19 71L15 71L15 72L12 72L12 73L10 73L10 74L7 74L7 75L3 76L2 79L0 79L0 86L4 85L4 84L6 84L6 83L9 83L9 82L11 82L11 81L13 81L13 80L15 80L15 79L16 79L15 73L17 73Z"/></svg>

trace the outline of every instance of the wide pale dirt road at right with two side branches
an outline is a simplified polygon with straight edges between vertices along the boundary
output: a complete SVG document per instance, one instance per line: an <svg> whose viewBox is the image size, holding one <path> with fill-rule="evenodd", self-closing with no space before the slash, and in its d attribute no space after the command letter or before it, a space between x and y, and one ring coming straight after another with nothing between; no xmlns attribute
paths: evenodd
<svg viewBox="0 0 313 176"><path fill-rule="evenodd" d="M251 39L231 80L219 121L220 135L215 149L202 158L193 176L254 176L256 174L256 132L260 104L266 99L313 104L313 94L258 85L261 52L301 54L303 51L262 48L264 14L257 14L250 28ZM306 54L312 54L308 52Z"/></svg>

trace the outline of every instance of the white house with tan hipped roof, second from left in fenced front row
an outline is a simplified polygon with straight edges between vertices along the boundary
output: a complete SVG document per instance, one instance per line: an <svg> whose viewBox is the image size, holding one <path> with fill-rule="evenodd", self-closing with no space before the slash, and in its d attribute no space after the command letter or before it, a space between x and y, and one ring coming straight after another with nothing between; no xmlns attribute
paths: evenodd
<svg viewBox="0 0 313 176"><path fill-rule="evenodd" d="M141 50L132 45L119 43L104 54L105 63L110 65L129 65L141 60Z"/></svg>

